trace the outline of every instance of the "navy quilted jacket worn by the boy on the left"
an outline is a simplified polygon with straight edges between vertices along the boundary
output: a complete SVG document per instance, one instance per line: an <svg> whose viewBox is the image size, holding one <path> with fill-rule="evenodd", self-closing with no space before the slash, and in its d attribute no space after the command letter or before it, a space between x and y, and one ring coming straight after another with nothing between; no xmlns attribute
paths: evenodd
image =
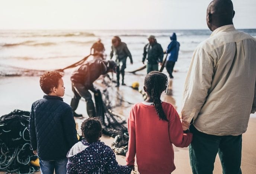
<svg viewBox="0 0 256 174"><path fill-rule="evenodd" d="M71 107L57 96L35 101L29 117L31 147L42 160L66 158L77 143L76 123Z"/></svg>

